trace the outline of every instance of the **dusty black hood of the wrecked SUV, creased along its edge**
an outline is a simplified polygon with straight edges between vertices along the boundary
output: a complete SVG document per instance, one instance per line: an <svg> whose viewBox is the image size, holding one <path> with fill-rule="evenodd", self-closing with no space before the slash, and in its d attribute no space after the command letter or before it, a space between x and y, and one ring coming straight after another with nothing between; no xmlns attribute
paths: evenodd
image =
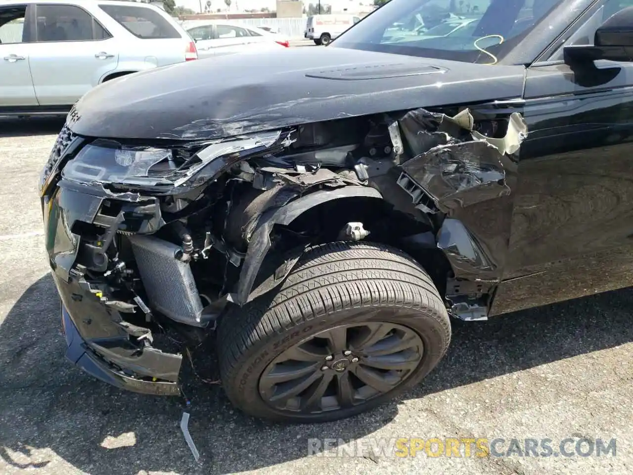
<svg viewBox="0 0 633 475"><path fill-rule="evenodd" d="M523 66L337 47L190 61L99 85L68 116L91 137L216 139L420 107L518 98Z"/></svg>

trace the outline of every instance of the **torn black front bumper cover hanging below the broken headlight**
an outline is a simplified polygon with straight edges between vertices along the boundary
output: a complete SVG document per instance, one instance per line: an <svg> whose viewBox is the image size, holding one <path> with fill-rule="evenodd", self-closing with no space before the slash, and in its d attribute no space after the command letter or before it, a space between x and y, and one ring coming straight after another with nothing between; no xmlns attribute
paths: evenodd
<svg viewBox="0 0 633 475"><path fill-rule="evenodd" d="M63 186L42 197L46 248L61 298L66 357L113 386L137 393L179 395L182 356L153 346L151 332L123 320L116 305L108 305L112 302L104 296L106 289L74 265L78 255L85 258L94 246L82 242L73 227L93 224L103 200Z"/></svg>

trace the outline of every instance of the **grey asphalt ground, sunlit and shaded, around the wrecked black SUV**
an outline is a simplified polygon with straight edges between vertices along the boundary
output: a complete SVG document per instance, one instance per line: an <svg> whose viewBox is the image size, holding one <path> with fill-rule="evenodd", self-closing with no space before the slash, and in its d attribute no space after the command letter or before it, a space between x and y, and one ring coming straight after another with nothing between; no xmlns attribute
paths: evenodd
<svg viewBox="0 0 633 475"><path fill-rule="evenodd" d="M84 374L64 358L36 192L61 125L0 118L0 473L633 473L631 289L489 322L455 322L448 355L423 384L369 414L330 424L283 426L246 417L217 385L187 388L187 407L179 398L124 393ZM213 377L213 365L208 371ZM180 432L184 410L199 462ZM565 438L615 438L617 452L430 457L422 450L397 457L359 448L396 438L471 437L503 438L500 453L511 439L549 438L556 445ZM310 438L323 445L334 439L335 447L308 456ZM350 447L359 456L351 457Z"/></svg>

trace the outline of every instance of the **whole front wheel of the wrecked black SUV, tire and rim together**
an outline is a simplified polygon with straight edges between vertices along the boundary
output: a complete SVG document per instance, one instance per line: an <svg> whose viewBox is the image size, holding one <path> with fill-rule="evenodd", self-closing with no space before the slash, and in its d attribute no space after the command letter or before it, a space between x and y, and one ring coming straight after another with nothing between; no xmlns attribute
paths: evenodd
<svg viewBox="0 0 633 475"><path fill-rule="evenodd" d="M386 338L377 339L385 331ZM349 337L344 345L330 338L341 332ZM327 422L373 409L417 384L446 352L451 326L437 289L413 258L382 244L345 241L308 250L276 294L234 307L225 315L217 338L223 388L235 407L279 422ZM365 346L360 343L363 339ZM396 355L375 356L389 345L396 350L409 346ZM341 352L342 346L351 350ZM293 358L290 366L284 366L287 361L279 363L297 350L301 365L325 371L311 369L308 379L320 379L301 398L285 403L282 398L285 405L279 407L281 403L273 399L278 390L283 394L282 385L270 390L269 383L276 381L271 378L278 377L279 367L292 374L297 371L299 361ZM349 352L353 354L342 356ZM303 361L304 355L310 356L310 362ZM374 365L394 361L381 356L400 358L389 364L403 364L406 369L375 369ZM373 386L363 386L368 369ZM381 379L372 379L376 374ZM320 383L325 383L326 392L316 397Z"/></svg>

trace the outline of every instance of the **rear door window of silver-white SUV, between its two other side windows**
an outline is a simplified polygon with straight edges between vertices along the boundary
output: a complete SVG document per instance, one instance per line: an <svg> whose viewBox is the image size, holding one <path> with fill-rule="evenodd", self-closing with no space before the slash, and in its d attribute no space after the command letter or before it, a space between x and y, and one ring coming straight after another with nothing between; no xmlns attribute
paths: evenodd
<svg viewBox="0 0 633 475"><path fill-rule="evenodd" d="M37 41L92 41L92 16L73 5L37 5Z"/></svg>

